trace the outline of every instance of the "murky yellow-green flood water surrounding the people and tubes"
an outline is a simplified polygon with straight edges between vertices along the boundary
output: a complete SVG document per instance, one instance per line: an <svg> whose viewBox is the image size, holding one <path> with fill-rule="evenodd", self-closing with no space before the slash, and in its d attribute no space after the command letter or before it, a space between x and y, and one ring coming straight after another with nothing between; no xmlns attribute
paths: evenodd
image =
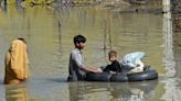
<svg viewBox="0 0 181 101"><path fill-rule="evenodd" d="M179 101L181 76L177 70L181 53L172 36L166 34L171 31L167 21L163 14L121 13L92 7L1 8L0 101ZM87 37L87 65L106 65L110 49L117 50L120 58L140 50L146 53L142 61L159 72L159 79L66 82L68 56L74 48L72 38L77 34ZM21 85L3 86L4 53L18 37L28 42L31 78ZM169 68L170 64L177 68ZM167 76L167 67L177 74Z"/></svg>

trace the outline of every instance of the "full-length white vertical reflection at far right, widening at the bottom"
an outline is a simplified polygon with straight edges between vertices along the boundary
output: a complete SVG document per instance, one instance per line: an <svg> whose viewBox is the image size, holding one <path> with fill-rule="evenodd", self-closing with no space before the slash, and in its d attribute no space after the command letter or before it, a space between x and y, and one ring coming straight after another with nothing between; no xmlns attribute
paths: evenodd
<svg viewBox="0 0 181 101"><path fill-rule="evenodd" d="M172 30L172 21L171 21L171 11L170 11L170 0L163 1L163 11L167 11L167 13L163 14L163 34L164 34L164 48L166 48L166 69L167 77L172 78L166 78L162 82L166 83L164 89L166 92L161 97L164 101L180 101L181 98L181 89L180 89L180 76L178 74L180 72L180 60L178 59L178 55L180 52L177 49L178 46L173 47L173 30ZM174 52L174 53L173 53ZM177 55L174 55L177 54ZM174 58L175 56L175 58Z"/></svg>

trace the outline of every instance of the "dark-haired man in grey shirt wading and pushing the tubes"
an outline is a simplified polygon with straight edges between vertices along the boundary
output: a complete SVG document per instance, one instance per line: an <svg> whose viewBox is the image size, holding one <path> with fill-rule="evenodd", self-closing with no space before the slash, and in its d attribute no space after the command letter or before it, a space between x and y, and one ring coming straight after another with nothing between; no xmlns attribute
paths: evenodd
<svg viewBox="0 0 181 101"><path fill-rule="evenodd" d="M102 72L98 68L85 66L82 49L84 49L86 38L83 35L74 36L74 46L70 55L67 81L84 80L87 72Z"/></svg>

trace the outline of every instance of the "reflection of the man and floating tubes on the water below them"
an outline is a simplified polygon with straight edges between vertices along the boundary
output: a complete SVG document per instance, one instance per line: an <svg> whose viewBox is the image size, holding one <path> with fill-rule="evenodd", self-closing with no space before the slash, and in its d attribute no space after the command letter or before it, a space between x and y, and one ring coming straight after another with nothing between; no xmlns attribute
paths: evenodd
<svg viewBox="0 0 181 101"><path fill-rule="evenodd" d="M71 82L70 101L147 101L157 83L157 80L139 83Z"/></svg>

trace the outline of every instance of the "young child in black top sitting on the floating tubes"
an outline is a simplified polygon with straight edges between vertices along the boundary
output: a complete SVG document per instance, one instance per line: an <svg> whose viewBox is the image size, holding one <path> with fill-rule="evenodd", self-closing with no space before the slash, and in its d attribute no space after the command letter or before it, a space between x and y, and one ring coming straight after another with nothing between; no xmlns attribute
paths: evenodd
<svg viewBox="0 0 181 101"><path fill-rule="evenodd" d="M107 65L103 71L107 71L110 74L120 72L121 67L120 67L120 64L119 64L118 58L117 58L117 52L110 50L108 53L108 58L109 58L110 65Z"/></svg>

